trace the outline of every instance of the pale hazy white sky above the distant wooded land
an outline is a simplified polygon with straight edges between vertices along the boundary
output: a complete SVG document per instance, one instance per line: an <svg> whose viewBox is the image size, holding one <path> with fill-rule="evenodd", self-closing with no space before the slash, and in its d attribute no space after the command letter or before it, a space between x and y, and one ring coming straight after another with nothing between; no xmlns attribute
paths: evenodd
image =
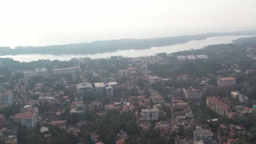
<svg viewBox="0 0 256 144"><path fill-rule="evenodd" d="M255 0L3 0L0 46L256 29Z"/></svg>

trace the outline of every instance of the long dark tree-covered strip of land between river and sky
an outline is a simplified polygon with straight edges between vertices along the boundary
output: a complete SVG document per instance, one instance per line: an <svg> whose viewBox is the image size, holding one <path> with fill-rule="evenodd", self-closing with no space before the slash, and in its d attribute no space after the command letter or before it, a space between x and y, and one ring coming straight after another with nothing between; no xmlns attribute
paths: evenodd
<svg viewBox="0 0 256 144"><path fill-rule="evenodd" d="M177 37L150 38L150 39L118 39L106 41L94 41L92 43L79 43L68 45L49 45L49 46L18 46L16 49L10 47L0 47L0 55L18 54L94 54L113 52L128 49L149 49L150 47L167 46L173 44L186 43L190 40L202 40L208 37L226 35L254 35L254 31L226 32L226 33L205 33L196 35L182 35Z"/></svg>

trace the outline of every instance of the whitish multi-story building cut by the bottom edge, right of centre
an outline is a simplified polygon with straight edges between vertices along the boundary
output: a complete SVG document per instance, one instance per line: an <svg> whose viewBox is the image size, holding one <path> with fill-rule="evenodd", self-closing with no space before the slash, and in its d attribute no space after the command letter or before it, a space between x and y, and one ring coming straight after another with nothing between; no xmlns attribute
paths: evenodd
<svg viewBox="0 0 256 144"><path fill-rule="evenodd" d="M194 140L202 140L205 144L212 143L212 131L210 129L196 129L193 131Z"/></svg>

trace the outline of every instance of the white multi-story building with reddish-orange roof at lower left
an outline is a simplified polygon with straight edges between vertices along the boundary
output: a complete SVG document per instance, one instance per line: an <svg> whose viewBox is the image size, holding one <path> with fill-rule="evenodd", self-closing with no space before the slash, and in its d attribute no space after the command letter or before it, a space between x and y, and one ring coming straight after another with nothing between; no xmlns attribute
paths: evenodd
<svg viewBox="0 0 256 144"><path fill-rule="evenodd" d="M33 129L36 126L38 119L37 107L27 107L26 112L17 113L14 117L15 122L20 122L21 125L27 127L27 129Z"/></svg>

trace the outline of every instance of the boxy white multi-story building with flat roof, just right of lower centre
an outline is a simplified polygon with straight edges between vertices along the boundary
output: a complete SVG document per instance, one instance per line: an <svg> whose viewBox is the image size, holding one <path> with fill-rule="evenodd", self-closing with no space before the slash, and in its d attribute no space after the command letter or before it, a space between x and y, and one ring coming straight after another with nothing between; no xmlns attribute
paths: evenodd
<svg viewBox="0 0 256 144"><path fill-rule="evenodd" d="M143 109L141 110L141 116L147 121L158 120L159 110L158 109Z"/></svg>

